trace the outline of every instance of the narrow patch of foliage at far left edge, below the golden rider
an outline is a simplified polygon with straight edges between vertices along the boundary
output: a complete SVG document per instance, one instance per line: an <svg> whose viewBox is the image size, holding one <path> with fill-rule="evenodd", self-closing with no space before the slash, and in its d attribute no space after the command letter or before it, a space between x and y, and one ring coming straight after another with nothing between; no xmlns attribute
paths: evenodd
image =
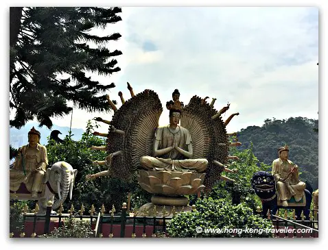
<svg viewBox="0 0 328 250"><path fill-rule="evenodd" d="M17 201L10 205L10 233L19 233L23 232L23 206L25 202Z"/></svg>

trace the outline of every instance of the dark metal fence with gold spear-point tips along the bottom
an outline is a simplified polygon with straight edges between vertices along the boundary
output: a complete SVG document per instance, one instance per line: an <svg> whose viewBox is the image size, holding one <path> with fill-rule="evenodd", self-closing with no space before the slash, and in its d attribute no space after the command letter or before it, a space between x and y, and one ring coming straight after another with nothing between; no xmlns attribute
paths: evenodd
<svg viewBox="0 0 328 250"><path fill-rule="evenodd" d="M158 214L156 208L152 214ZM166 225L167 221L176 215L175 208L167 212L165 207L161 212L161 216L148 216L148 212L130 213L126 203L123 203L121 212L115 214L115 208L105 214L104 205L95 211L93 205L89 210L89 215L84 215L86 212L84 206L75 212L73 205L71 205L69 213L63 214L63 208L60 206L58 214L51 214L51 203L47 206L45 215L38 214L38 205L28 213L27 205L23 209L23 229L19 236L10 233L10 237L29 237L35 238L42 234L49 234L54 228L62 226L62 221L65 218L74 217L84 221L90 221L92 234L89 237L93 238L137 238L137 237L167 237ZM196 207L193 205L191 212L194 212ZM259 214L261 211L257 211ZM170 214L171 216L166 216ZM279 210L276 214L268 211L268 219L272 220L274 226L274 237L276 238L317 238L318 237L318 210L310 211L309 220L305 220L303 213L301 218L296 218L294 212L285 210L283 217L279 216ZM291 215L292 214L292 215ZM27 224L29 222L29 224ZM42 228L40 228L42 227Z"/></svg>

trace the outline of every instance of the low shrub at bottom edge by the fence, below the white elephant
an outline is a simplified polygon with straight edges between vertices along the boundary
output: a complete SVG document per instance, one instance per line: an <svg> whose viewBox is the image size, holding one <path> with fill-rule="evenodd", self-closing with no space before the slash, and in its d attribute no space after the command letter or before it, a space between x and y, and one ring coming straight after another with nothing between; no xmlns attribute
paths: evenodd
<svg viewBox="0 0 328 250"><path fill-rule="evenodd" d="M90 221L81 221L80 218L69 217L61 227L54 229L50 234L43 234L39 238L90 238L93 231Z"/></svg>

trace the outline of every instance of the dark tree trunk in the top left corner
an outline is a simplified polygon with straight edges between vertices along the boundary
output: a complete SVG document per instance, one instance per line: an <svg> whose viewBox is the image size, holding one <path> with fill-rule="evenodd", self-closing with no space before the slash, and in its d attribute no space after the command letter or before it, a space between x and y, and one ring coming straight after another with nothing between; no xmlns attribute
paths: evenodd
<svg viewBox="0 0 328 250"><path fill-rule="evenodd" d="M13 47L18 38L21 29L21 17L23 15L23 7L10 7L10 27L9 27L9 45Z"/></svg>

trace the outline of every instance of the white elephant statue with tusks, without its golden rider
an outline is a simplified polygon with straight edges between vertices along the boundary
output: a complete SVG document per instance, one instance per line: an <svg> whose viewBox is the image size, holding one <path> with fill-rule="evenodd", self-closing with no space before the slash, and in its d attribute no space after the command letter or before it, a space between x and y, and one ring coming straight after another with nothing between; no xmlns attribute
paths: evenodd
<svg viewBox="0 0 328 250"><path fill-rule="evenodd" d="M10 190L10 199L38 199L38 206L40 208L38 214L45 214L48 201L52 201L54 203L52 205L52 209L56 210L59 208L60 204L64 203L67 195L69 195L69 199L72 198L74 179L77 173L78 170L73 169L71 164L67 162L56 162L51 167L47 168L43 180L43 192L39 194L38 198L32 198L31 193L26 192L26 190L25 192L20 192L21 187L25 186L24 184L21 184L21 187L19 190L16 190L16 192ZM58 194L59 199L54 201L56 194Z"/></svg>

